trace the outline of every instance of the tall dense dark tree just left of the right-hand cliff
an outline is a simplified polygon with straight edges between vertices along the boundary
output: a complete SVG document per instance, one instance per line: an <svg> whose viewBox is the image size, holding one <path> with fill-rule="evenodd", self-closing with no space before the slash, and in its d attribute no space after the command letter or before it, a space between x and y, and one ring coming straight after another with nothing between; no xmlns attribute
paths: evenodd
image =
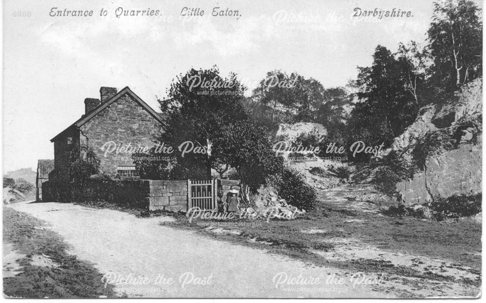
<svg viewBox="0 0 486 303"><path fill-rule="evenodd" d="M403 64L388 49L378 46L371 67L359 67L359 101L349 121L349 143L388 145L417 116L417 102L403 80Z"/></svg>

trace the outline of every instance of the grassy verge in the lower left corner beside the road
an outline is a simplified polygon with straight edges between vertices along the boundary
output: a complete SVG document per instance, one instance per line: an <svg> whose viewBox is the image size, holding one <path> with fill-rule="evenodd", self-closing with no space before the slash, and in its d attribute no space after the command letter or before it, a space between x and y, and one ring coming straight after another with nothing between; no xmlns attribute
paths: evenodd
<svg viewBox="0 0 486 303"><path fill-rule="evenodd" d="M116 297L104 288L102 274L91 263L67 253L68 245L45 222L9 207L3 208L3 242L25 257L17 260L21 273L3 278L3 292L12 298ZM32 257L48 257L56 266L32 265Z"/></svg>

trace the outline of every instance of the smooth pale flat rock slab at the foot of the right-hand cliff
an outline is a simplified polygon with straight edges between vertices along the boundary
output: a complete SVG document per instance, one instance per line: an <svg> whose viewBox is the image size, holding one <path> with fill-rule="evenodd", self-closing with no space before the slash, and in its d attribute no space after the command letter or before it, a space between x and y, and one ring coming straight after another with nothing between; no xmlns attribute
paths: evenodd
<svg viewBox="0 0 486 303"><path fill-rule="evenodd" d="M412 180L397 184L405 203L420 203L434 197L454 194L472 195L482 192L481 144L464 144L427 159L424 172Z"/></svg>

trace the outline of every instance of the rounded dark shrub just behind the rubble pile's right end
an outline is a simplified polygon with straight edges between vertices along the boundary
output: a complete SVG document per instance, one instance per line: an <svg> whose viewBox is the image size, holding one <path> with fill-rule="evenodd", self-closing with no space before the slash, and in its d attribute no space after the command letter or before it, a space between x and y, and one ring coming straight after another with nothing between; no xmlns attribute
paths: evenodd
<svg viewBox="0 0 486 303"><path fill-rule="evenodd" d="M314 188L305 182L302 174L292 168L284 168L277 177L278 193L287 203L306 211L317 210L317 195Z"/></svg>

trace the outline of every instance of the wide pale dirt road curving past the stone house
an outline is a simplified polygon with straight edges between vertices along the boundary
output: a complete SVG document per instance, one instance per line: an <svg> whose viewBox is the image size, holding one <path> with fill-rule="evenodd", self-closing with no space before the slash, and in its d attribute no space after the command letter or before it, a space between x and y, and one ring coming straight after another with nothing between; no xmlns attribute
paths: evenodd
<svg viewBox="0 0 486 303"><path fill-rule="evenodd" d="M169 217L67 203L11 204L51 224L70 253L94 263L128 297L388 297L352 273L160 226ZM373 277L368 281L372 281Z"/></svg>

